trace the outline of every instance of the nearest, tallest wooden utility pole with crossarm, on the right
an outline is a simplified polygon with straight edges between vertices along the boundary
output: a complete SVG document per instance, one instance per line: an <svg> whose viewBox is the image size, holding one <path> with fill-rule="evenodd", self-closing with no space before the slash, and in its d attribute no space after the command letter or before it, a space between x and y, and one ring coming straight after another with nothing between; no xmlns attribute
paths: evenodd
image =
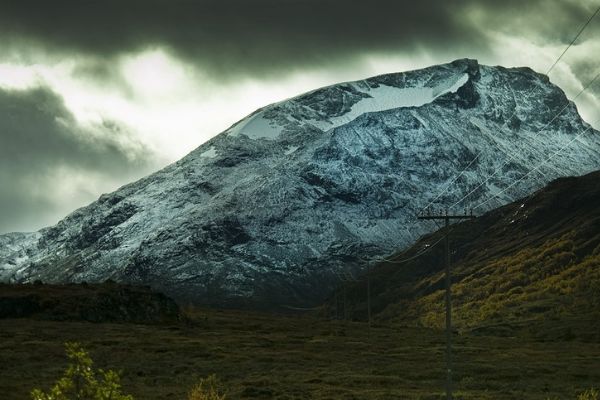
<svg viewBox="0 0 600 400"><path fill-rule="evenodd" d="M448 210L444 213L436 214L435 212L431 212L430 209L427 210L426 214L420 215L419 219L428 219L428 220L444 220L444 226L446 229L446 236L444 238L445 244L445 264L446 264L446 272L445 272L445 280L446 280L446 400L452 400L452 299L451 299L451 276L450 276L450 220L456 219L469 219L473 218L473 210L471 210L471 214L467 214L465 211L464 214L455 214L450 215Z"/></svg>

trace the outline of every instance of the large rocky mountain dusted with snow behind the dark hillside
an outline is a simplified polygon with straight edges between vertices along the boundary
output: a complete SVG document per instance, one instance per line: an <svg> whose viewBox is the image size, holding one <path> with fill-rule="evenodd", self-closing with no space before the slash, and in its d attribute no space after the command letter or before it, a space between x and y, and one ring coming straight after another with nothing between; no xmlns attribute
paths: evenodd
<svg viewBox="0 0 600 400"><path fill-rule="evenodd" d="M110 278L204 304L310 306L340 274L430 232L414 215L451 183L436 205L518 182L487 209L598 168L600 135L546 76L457 60L262 108L55 226L0 236L0 279Z"/></svg>

